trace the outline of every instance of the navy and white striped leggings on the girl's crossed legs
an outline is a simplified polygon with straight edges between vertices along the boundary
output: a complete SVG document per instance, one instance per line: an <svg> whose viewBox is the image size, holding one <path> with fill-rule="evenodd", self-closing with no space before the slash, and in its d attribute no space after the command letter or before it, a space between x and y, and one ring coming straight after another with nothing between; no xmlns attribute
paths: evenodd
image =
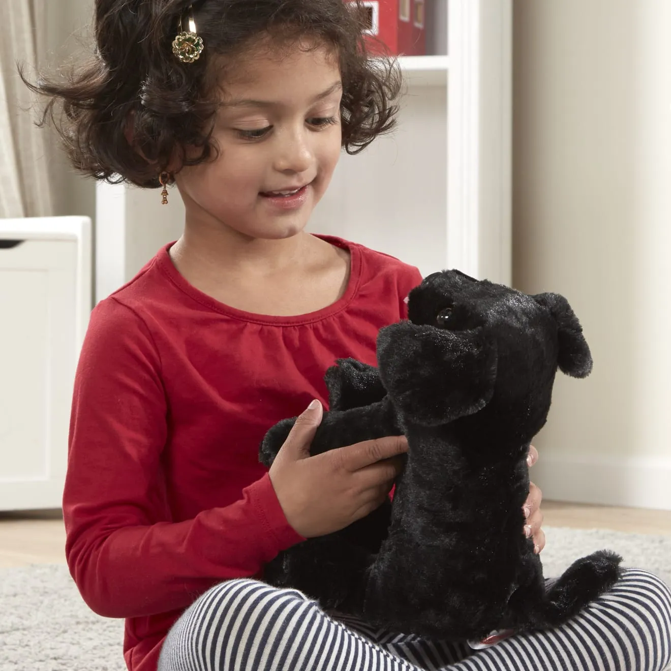
<svg viewBox="0 0 671 671"><path fill-rule="evenodd" d="M562 627L477 651L336 619L297 590L230 580L175 623L158 671L662 671L670 662L671 592L627 569Z"/></svg>

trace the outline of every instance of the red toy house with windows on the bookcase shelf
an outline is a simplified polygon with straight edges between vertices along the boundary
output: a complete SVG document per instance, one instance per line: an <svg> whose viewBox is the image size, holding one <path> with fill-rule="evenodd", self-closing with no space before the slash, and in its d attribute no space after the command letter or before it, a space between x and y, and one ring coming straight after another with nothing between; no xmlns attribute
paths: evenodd
<svg viewBox="0 0 671 671"><path fill-rule="evenodd" d="M391 54L425 56L426 0L362 0L360 5L373 54L380 53L380 40Z"/></svg>

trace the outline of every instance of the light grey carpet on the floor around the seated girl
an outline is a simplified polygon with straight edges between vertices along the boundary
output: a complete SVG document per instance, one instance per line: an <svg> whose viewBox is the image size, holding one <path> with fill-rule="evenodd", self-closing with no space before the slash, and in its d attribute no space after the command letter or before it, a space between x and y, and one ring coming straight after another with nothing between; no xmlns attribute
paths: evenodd
<svg viewBox="0 0 671 671"><path fill-rule="evenodd" d="M546 529L546 576L572 560L611 548L627 566L671 584L671 536ZM65 566L0 570L0 671L123 671L123 623L98 617L79 597Z"/></svg>

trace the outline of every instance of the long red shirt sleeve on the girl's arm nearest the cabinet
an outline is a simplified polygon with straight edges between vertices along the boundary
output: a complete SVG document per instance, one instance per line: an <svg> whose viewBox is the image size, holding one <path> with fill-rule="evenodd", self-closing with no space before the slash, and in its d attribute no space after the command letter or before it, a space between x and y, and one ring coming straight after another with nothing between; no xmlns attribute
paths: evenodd
<svg viewBox="0 0 671 671"><path fill-rule="evenodd" d="M91 315L76 372L63 496L68 566L99 615L183 609L303 540L267 474L236 503L174 523L162 476L167 415L148 328L106 299Z"/></svg>

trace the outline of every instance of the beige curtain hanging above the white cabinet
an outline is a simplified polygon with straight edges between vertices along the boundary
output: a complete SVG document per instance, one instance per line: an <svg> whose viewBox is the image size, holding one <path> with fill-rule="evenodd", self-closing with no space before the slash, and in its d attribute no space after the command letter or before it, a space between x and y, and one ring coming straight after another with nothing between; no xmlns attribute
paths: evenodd
<svg viewBox="0 0 671 671"><path fill-rule="evenodd" d="M0 0L0 217L53 214L48 130L34 125L40 107L17 72L19 62L34 80L48 1Z"/></svg>

